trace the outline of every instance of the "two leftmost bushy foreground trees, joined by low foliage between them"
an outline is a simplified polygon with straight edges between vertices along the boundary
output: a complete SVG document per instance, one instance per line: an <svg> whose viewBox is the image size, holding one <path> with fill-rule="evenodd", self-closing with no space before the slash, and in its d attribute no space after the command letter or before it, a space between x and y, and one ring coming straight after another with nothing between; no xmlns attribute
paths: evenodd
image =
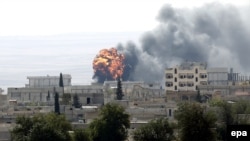
<svg viewBox="0 0 250 141"><path fill-rule="evenodd" d="M38 114L34 117L21 116L11 130L12 141L123 141L130 127L129 115L118 104L106 104L98 118L87 129L76 129L64 115L57 113Z"/></svg>

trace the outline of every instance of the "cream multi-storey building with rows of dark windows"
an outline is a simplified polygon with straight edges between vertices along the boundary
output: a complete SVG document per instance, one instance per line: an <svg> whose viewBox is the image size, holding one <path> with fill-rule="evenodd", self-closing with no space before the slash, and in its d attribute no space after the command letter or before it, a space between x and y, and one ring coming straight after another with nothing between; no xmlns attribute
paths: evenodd
<svg viewBox="0 0 250 141"><path fill-rule="evenodd" d="M206 63L185 62L165 70L166 91L196 91L207 80Z"/></svg>

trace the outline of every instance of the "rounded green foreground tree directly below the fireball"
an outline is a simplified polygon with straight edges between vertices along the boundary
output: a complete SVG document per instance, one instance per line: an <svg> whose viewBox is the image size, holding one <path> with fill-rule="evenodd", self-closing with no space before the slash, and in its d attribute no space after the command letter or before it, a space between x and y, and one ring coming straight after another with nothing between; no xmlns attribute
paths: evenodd
<svg viewBox="0 0 250 141"><path fill-rule="evenodd" d="M101 108L97 119L90 123L93 141L124 141L130 127L129 115L124 107L108 103Z"/></svg>

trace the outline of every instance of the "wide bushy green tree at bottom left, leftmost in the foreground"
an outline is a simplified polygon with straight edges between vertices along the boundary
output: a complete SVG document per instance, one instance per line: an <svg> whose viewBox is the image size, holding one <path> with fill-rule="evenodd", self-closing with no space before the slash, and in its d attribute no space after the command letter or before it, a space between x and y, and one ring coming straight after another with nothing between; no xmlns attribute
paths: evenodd
<svg viewBox="0 0 250 141"><path fill-rule="evenodd" d="M49 113L17 117L16 126L10 132L12 141L69 141L71 129L63 115Z"/></svg>

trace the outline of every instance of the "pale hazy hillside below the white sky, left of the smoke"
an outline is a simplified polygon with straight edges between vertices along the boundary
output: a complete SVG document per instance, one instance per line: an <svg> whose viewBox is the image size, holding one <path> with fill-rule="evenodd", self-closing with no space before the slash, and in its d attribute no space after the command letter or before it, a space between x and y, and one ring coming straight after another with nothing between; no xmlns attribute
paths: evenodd
<svg viewBox="0 0 250 141"><path fill-rule="evenodd" d="M0 37L0 88L24 87L27 76L72 76L73 85L90 84L99 50L139 40L141 32L93 32L50 36Z"/></svg>

